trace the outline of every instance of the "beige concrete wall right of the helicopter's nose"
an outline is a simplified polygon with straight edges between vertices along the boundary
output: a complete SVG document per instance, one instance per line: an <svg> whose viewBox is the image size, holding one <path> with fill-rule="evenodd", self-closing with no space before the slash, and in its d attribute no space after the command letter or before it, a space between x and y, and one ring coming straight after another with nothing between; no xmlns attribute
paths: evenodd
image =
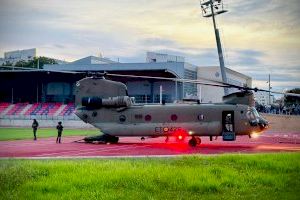
<svg viewBox="0 0 300 200"><path fill-rule="evenodd" d="M269 131L300 133L300 116L262 114L270 123Z"/></svg>

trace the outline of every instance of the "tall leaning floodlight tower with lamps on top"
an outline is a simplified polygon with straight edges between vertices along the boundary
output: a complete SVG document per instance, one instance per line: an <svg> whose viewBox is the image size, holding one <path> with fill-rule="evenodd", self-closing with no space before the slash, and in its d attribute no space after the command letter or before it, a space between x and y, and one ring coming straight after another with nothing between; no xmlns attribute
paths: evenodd
<svg viewBox="0 0 300 200"><path fill-rule="evenodd" d="M220 62L220 68L222 74L222 81L224 83L227 83L227 76L225 72L225 64L223 58L222 45L220 41L220 34L219 34L219 29L216 26L216 20L215 20L215 15L225 13L227 12L227 10L224 9L222 0L200 0L200 5L202 9L202 16L212 17L213 19L213 25L214 25L218 55L219 55L219 62ZM225 95L228 94L228 88L226 87L224 87L224 94Z"/></svg>

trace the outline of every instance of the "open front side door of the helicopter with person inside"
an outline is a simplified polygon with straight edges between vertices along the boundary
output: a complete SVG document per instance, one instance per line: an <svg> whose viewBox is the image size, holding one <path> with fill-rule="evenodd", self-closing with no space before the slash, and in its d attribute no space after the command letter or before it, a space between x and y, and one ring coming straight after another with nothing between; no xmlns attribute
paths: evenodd
<svg viewBox="0 0 300 200"><path fill-rule="evenodd" d="M222 137L224 141L234 141L234 111L222 112Z"/></svg>

